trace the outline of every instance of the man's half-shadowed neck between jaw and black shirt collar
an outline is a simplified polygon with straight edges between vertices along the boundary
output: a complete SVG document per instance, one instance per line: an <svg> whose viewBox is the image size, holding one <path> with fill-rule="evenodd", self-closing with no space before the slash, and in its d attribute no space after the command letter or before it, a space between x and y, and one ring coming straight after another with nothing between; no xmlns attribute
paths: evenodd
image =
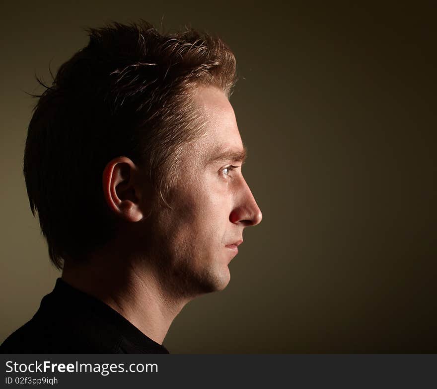
<svg viewBox="0 0 437 389"><path fill-rule="evenodd" d="M100 299L162 344L174 318L190 299L166 291L157 271L144 268L146 261L137 262L141 262L141 268L134 265L135 261L111 255L92 256L80 263L66 261L62 279Z"/></svg>

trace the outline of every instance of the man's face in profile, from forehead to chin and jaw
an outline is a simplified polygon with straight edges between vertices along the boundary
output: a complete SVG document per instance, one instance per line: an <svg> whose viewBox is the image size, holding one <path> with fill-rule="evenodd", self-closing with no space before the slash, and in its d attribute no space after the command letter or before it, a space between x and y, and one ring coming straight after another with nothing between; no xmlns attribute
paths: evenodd
<svg viewBox="0 0 437 389"><path fill-rule="evenodd" d="M206 136L186 147L167 199L171 209L160 209L152 224L162 283L193 295L226 287L244 227L262 218L241 174L244 147L228 99L199 87L195 102L207 120Z"/></svg>

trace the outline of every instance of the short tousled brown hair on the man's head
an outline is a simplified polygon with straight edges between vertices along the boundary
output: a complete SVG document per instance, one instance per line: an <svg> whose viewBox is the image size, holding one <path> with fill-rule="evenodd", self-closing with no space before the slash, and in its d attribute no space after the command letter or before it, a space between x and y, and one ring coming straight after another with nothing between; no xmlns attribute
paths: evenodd
<svg viewBox="0 0 437 389"><path fill-rule="evenodd" d="M106 164L126 156L145 166L165 202L183 146L202 131L195 87L214 85L229 97L236 81L230 49L191 28L164 34L142 20L88 33L88 45L37 96L24 153L30 207L59 269L115 234L102 190Z"/></svg>

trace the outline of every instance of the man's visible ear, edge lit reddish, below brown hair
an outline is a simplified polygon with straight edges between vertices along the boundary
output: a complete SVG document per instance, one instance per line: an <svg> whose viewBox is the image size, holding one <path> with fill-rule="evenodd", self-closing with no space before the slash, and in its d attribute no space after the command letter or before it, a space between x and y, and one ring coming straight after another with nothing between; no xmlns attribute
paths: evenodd
<svg viewBox="0 0 437 389"><path fill-rule="evenodd" d="M127 157L117 157L103 171L103 194L112 212L122 219L137 222L143 219L140 207L139 170Z"/></svg>

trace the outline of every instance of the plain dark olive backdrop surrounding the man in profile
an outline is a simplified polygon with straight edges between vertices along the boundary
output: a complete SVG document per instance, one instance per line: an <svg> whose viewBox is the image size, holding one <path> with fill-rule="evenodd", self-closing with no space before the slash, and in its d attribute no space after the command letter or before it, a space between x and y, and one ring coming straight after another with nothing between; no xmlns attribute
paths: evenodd
<svg viewBox="0 0 437 389"><path fill-rule="evenodd" d="M243 171L264 214L229 286L176 317L170 352L437 352L432 2L157 3L1 5L0 341L59 276L22 177L24 91L86 45L83 28L144 18L234 50Z"/></svg>

